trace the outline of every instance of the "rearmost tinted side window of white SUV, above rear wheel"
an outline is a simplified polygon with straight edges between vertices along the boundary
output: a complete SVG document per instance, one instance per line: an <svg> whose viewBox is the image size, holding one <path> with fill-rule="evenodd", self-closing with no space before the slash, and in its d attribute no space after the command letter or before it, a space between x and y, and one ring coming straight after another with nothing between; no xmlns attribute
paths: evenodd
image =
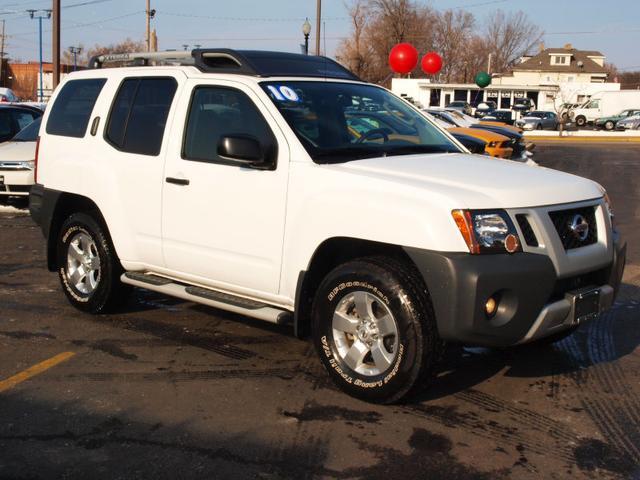
<svg viewBox="0 0 640 480"><path fill-rule="evenodd" d="M93 106L106 81L105 78L92 78L67 82L51 108L47 133L84 137Z"/></svg>

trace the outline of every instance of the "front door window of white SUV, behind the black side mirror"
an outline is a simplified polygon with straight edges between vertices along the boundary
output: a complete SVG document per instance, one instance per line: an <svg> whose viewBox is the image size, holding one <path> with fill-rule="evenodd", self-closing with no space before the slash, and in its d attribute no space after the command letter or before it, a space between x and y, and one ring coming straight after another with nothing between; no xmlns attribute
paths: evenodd
<svg viewBox="0 0 640 480"><path fill-rule="evenodd" d="M218 157L218 143L225 135L255 137L265 151L275 154L273 133L247 95L230 88L196 88L187 119L183 157L233 164Z"/></svg>

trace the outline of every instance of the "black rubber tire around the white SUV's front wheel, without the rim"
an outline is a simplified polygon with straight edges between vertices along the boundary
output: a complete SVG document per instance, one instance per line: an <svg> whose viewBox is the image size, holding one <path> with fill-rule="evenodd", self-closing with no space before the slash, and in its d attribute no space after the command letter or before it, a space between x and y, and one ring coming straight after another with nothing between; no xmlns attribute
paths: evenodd
<svg viewBox="0 0 640 480"><path fill-rule="evenodd" d="M375 297L371 311L374 305L386 308L397 327L393 359L379 374L363 375L351 368L340 355L334 339L336 308L344 304L343 300L348 302L361 292ZM444 346L419 273L410 264L387 257L356 259L332 270L316 292L312 326L318 355L336 385L353 397L373 403L397 402L425 386ZM353 335L352 347L358 341L356 335ZM380 341L385 343L389 338L380 336ZM364 356L363 365L371 353ZM373 357L369 358L374 362Z"/></svg>

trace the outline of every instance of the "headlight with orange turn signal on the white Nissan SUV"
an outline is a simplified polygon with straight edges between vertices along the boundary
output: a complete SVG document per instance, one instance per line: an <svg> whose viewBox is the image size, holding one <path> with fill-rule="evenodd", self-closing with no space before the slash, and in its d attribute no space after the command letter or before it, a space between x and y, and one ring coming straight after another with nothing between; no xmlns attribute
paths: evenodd
<svg viewBox="0 0 640 480"><path fill-rule="evenodd" d="M504 210L453 210L451 215L470 253L522 251L515 226Z"/></svg>

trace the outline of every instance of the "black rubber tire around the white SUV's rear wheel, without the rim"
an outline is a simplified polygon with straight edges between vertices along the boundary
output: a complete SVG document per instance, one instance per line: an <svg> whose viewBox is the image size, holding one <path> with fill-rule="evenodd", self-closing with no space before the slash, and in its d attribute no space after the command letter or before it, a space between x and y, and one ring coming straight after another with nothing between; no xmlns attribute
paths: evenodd
<svg viewBox="0 0 640 480"><path fill-rule="evenodd" d="M89 238L93 242L93 246L88 248L87 252L95 254L93 265L98 268L98 272L94 275L95 287L90 292L83 292L74 285L70 274L72 267L69 265L68 255L72 248L71 243L79 236ZM122 265L106 229L87 213L74 213L62 224L57 243L57 266L58 277L67 299L74 307L84 312L98 314L112 311L126 302L131 291L131 287L120 282Z"/></svg>

